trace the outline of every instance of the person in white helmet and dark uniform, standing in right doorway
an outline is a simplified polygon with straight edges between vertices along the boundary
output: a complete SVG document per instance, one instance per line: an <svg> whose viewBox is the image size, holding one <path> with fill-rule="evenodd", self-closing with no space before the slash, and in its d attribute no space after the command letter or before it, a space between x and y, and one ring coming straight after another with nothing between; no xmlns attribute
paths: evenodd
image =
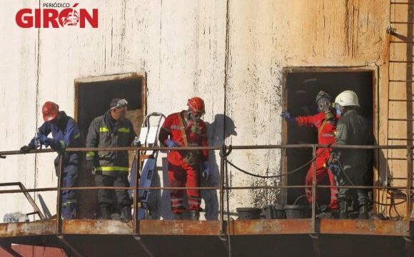
<svg viewBox="0 0 414 257"><path fill-rule="evenodd" d="M358 114L359 101L355 92L346 90L336 96L335 109L340 114L336 126L337 145L367 145L369 140L368 122ZM339 186L364 186L364 176L368 167L366 149L335 148L330 170L335 171ZM359 218L368 218L367 190L356 189L359 203ZM355 189L339 188L338 202L340 218L348 218L348 206L355 198Z"/></svg>

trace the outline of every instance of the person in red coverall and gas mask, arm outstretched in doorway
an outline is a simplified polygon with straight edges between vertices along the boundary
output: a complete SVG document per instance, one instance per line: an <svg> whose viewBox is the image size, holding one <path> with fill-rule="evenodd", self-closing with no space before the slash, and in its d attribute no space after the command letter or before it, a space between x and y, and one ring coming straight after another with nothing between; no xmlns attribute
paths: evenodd
<svg viewBox="0 0 414 257"><path fill-rule="evenodd" d="M288 111L282 111L281 116L286 121L298 126L309 126L318 129L318 143L332 144L335 143L335 129L339 116L335 114L332 106L332 98L325 91L320 91L316 96L316 104L318 105L318 114L313 116L292 117ZM324 211L338 212L338 189L335 187L335 177L329 170L326 163L330 157L331 148L318 148L316 151L316 160L312 162L309 171L306 174L305 184L311 186L313 182L313 166L316 167L316 183L320 183L323 178L328 176L330 186L330 203ZM312 188L305 189L308 202L312 203ZM318 194L316 195L318 199ZM338 213L335 213L337 215Z"/></svg>

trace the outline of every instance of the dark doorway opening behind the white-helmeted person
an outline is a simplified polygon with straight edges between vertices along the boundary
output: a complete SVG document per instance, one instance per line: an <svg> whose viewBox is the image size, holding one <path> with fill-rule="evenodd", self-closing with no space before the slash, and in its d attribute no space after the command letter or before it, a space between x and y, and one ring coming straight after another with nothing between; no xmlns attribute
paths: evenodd
<svg viewBox="0 0 414 257"><path fill-rule="evenodd" d="M360 114L368 119L369 131L373 135L373 96L374 96L374 73L367 70L355 69L287 69L286 70L286 96L283 107L291 116L311 116L318 113L315 96L320 90L326 91L332 96L333 101L340 92L345 90L354 91L359 98ZM296 124L283 125L283 143L318 143L318 131L312 127L296 126ZM372 141L372 140L371 140ZM292 171L312 159L311 149L287 149L286 170ZM286 184L288 186L304 185L308 166L301 168L296 173L288 175ZM368 165L367 181L369 186L373 185L373 161ZM328 177L322 184L329 185ZM328 188L318 189L320 198L318 205L328 204L330 191ZM287 192L287 203L292 204L297 198L305 194L304 188L289 188ZM307 204L306 197L298 199L298 203Z"/></svg>

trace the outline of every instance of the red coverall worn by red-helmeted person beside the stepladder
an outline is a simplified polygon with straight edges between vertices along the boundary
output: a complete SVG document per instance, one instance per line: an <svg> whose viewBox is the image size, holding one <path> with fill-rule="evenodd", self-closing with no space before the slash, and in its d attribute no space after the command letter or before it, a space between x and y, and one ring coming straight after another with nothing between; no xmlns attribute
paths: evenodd
<svg viewBox="0 0 414 257"><path fill-rule="evenodd" d="M180 116L183 117L183 112L168 115L163 123L163 129L168 132L170 139L175 141L178 146L186 146L183 132L181 131ZM182 119L182 121L185 126L188 146L207 146L207 132L204 121L200 121L198 124L194 124L192 121L185 124L186 121L184 119ZM169 151L167 154L169 186L198 186L198 175L201 162L207 161L208 151L193 151L193 153L195 153L193 154L195 157L193 163L187 163L185 161L188 152L189 151ZM198 189L187 189L186 191L188 196L188 209L200 211L200 191ZM173 211L173 213L185 211L183 206L183 193L183 190L171 190L171 211Z"/></svg>

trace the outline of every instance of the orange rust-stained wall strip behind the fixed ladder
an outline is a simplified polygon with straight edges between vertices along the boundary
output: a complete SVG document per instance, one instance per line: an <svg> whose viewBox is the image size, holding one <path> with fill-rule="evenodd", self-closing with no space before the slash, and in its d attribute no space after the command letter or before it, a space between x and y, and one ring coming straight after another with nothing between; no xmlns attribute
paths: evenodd
<svg viewBox="0 0 414 257"><path fill-rule="evenodd" d="M408 1L403 1L408 2ZM413 6L394 5L390 9L390 21L413 22ZM413 41L413 24L395 24L393 28L397 35L390 36L390 40L396 43L390 44L390 73L391 80L388 98L392 99L388 104L388 133L384 135L388 138L388 143L393 145L413 145L413 44L401 44L402 41ZM408 82L405 82L408 81ZM408 121L407 121L408 120ZM407 186L408 151L405 149L385 151L388 157L386 169L383 169L382 181L392 186ZM405 189L403 190L405 193ZM379 211L385 215L399 218L405 216L406 204L404 194L396 193L393 202L390 201L390 193L379 194L379 201L393 203L395 206L380 206Z"/></svg>

